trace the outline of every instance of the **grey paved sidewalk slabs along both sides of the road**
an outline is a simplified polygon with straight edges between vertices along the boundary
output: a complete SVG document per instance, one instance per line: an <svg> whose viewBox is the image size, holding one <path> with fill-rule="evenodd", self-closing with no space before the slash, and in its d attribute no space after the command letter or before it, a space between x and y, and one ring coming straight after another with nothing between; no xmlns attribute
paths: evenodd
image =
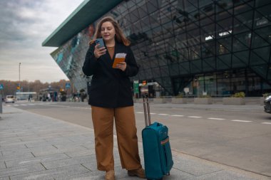
<svg viewBox="0 0 271 180"><path fill-rule="evenodd" d="M164 107L166 104L160 106ZM247 105L238 107L252 108ZM260 105L259 107L258 110L262 108ZM93 129L14 107L4 106L0 117L0 180L104 179L104 172L96 169ZM141 142L139 147L143 162ZM129 177L126 170L121 169L116 143L114 157L116 179L138 179ZM164 180L271 179L180 152L173 152L173 161L175 164L170 176L165 176Z"/></svg>

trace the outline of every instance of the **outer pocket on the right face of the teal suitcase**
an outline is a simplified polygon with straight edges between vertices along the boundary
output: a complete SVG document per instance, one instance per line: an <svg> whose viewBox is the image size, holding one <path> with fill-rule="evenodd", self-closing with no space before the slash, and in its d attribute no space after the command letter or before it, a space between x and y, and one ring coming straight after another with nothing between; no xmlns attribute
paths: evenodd
<svg viewBox="0 0 271 180"><path fill-rule="evenodd" d="M169 137L166 137L162 141L160 141L161 147L161 158L162 158L162 167L163 167L163 174L168 174L170 169L173 167L173 159L171 154L170 142Z"/></svg>

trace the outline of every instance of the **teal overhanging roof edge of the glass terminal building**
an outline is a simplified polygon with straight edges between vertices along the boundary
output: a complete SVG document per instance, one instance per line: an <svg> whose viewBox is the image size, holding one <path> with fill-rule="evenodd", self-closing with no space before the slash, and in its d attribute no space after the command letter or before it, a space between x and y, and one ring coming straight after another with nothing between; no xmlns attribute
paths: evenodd
<svg viewBox="0 0 271 180"><path fill-rule="evenodd" d="M122 0L85 0L51 33L42 46L59 47L89 24L113 9Z"/></svg>

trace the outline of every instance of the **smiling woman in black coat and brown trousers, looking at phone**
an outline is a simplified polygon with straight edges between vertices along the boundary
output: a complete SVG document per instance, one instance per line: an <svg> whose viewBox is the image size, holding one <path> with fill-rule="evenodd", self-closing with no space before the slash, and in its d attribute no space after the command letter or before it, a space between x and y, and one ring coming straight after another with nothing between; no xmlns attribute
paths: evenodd
<svg viewBox="0 0 271 180"><path fill-rule="evenodd" d="M83 73L93 75L88 104L91 105L95 134L97 168L106 179L115 179L113 159L113 119L115 118L121 166L129 176L145 178L138 155L138 137L133 110L133 95L128 77L138 73L129 47L130 41L111 17L101 19L94 38L103 38L106 47L92 41L83 63ZM116 53L126 53L125 62L112 68Z"/></svg>

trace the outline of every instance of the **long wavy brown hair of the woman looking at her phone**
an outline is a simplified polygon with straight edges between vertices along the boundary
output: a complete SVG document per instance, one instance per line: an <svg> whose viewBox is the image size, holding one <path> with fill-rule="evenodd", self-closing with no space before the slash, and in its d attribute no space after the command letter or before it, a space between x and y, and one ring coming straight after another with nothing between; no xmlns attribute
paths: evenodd
<svg viewBox="0 0 271 180"><path fill-rule="evenodd" d="M115 28L116 31L116 41L118 41L118 43L123 43L125 46L129 46L130 45L130 41L128 40L128 38L126 38L126 36L124 36L123 31L121 30L121 27L118 25L118 23L111 17L111 16L106 16L104 18L101 19L101 21L98 23L98 26L96 27L96 32L94 34L94 38L101 38L101 26L103 23L105 22L111 22Z"/></svg>

